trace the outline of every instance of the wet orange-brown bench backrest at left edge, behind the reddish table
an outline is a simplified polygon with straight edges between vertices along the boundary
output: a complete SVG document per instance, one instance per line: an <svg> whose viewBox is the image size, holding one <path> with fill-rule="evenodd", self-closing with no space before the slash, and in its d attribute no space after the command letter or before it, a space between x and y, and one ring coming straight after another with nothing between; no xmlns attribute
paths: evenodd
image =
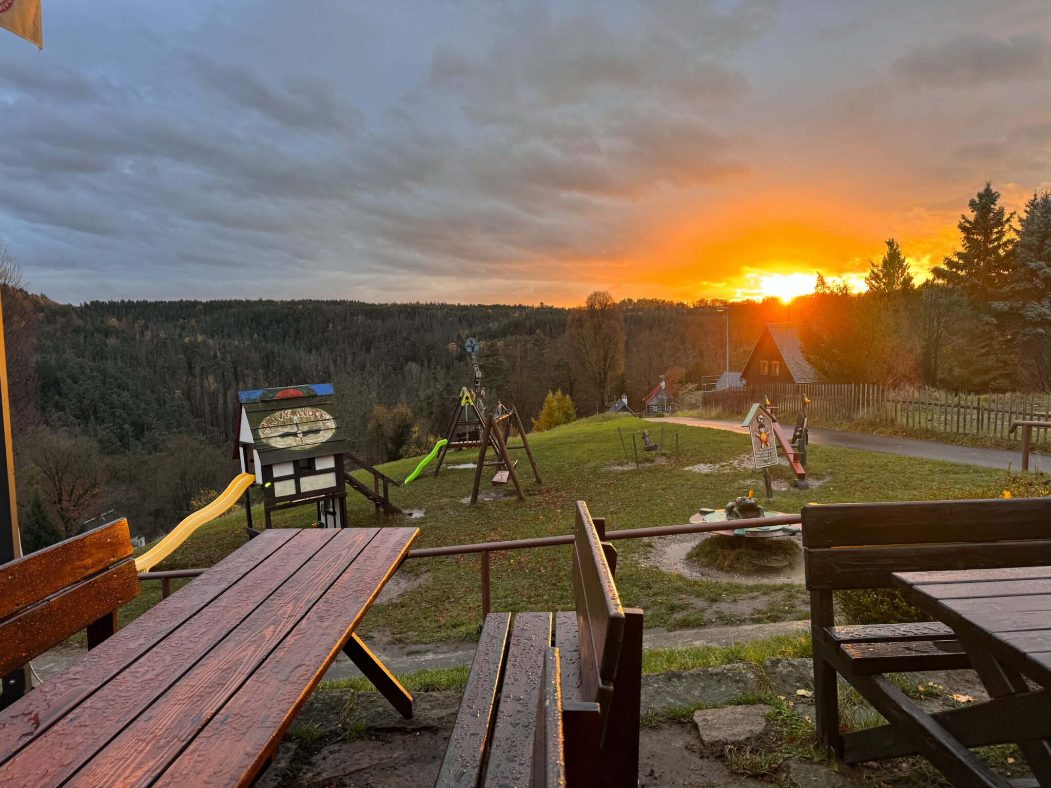
<svg viewBox="0 0 1051 788"><path fill-rule="evenodd" d="M85 627L88 647L96 645L112 633L117 608L137 596L127 520L0 566L0 676Z"/></svg>

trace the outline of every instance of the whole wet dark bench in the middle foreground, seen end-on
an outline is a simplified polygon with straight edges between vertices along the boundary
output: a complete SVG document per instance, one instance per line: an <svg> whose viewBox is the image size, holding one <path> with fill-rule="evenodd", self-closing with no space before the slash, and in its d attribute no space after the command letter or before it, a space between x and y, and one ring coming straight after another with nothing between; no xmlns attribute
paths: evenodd
<svg viewBox="0 0 1051 788"><path fill-rule="evenodd" d="M435 786L638 784L642 610L604 528L578 501L575 611L486 618Z"/></svg>

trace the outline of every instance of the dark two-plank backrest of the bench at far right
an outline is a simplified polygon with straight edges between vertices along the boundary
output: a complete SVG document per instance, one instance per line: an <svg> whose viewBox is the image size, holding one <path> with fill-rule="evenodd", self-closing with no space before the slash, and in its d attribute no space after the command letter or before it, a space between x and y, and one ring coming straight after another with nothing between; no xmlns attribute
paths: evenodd
<svg viewBox="0 0 1051 788"><path fill-rule="evenodd" d="M806 587L889 588L895 572L1051 564L1051 498L804 506Z"/></svg>

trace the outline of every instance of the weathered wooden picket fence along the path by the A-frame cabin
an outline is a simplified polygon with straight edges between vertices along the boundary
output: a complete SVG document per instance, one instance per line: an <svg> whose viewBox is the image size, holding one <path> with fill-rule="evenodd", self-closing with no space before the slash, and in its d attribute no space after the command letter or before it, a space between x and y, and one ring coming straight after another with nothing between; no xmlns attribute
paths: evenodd
<svg viewBox="0 0 1051 788"><path fill-rule="evenodd" d="M899 424L916 431L988 435L1017 440L1009 435L1016 419L1051 420L1051 396L1034 394L968 394L936 389L891 388L869 383L777 383L750 386L700 395L705 414L747 413L763 397L778 407L783 421L795 420L810 399L808 414L813 426L845 426L857 420ZM1049 442L1049 430L1036 430L1033 441Z"/></svg>

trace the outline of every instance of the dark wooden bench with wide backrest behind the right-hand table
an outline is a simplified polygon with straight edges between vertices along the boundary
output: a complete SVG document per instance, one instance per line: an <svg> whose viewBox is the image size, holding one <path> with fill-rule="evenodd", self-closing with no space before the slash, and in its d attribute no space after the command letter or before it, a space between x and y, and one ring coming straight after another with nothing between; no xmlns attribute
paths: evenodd
<svg viewBox="0 0 1051 788"><path fill-rule="evenodd" d="M940 622L836 626L833 592L891 588L895 572L1051 564L1051 498L811 504L802 516L818 734L847 763L869 755L864 731L840 732L837 675L871 701L881 673L971 663Z"/></svg>

